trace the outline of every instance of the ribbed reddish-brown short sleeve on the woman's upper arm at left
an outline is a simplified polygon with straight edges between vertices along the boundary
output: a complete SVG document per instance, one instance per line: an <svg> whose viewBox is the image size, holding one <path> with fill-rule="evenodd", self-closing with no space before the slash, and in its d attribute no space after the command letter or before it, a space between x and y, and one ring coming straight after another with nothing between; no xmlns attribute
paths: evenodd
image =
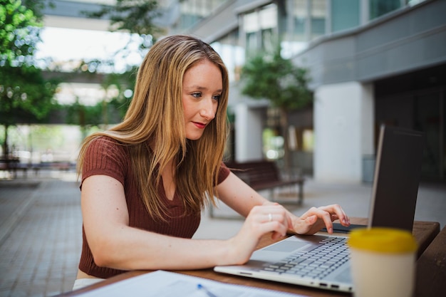
<svg viewBox="0 0 446 297"><path fill-rule="evenodd" d="M90 142L85 152L82 168L82 182L92 175L108 175L124 184L128 170L128 153L110 137L98 137Z"/></svg>

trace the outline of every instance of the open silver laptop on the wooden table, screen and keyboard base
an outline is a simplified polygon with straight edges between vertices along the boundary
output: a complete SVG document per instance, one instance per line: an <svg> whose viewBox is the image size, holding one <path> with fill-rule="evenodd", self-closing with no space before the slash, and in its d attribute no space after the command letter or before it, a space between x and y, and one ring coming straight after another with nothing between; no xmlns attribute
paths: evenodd
<svg viewBox="0 0 446 297"><path fill-rule="evenodd" d="M421 132L380 127L368 226L412 231L423 147ZM214 271L353 292L347 238L290 236L254 251L247 264L215 266Z"/></svg>

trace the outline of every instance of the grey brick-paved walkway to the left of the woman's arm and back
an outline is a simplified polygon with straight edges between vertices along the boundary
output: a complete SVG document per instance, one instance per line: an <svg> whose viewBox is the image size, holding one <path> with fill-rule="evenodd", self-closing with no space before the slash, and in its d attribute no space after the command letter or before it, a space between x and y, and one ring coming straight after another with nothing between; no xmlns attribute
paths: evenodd
<svg viewBox="0 0 446 297"><path fill-rule="evenodd" d="M0 181L1 297L71 291L82 241L73 180Z"/></svg>

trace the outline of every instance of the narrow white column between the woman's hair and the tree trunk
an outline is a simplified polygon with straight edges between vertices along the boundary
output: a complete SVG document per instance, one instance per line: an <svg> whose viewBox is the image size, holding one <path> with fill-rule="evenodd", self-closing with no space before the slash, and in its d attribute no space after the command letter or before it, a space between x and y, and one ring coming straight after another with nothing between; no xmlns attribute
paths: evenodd
<svg viewBox="0 0 446 297"><path fill-rule="evenodd" d="M235 160L245 162L261 160L262 155L262 117L249 105L237 104L234 108Z"/></svg>

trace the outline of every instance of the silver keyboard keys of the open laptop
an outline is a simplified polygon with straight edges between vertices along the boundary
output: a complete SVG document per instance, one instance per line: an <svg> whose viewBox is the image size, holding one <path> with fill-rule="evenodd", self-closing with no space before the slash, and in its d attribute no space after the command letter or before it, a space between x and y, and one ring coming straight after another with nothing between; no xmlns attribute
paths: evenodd
<svg viewBox="0 0 446 297"><path fill-rule="evenodd" d="M323 278L348 261L346 237L329 237L320 241L321 246L311 251L297 251L285 259L266 264L261 271L291 273L302 277Z"/></svg>

